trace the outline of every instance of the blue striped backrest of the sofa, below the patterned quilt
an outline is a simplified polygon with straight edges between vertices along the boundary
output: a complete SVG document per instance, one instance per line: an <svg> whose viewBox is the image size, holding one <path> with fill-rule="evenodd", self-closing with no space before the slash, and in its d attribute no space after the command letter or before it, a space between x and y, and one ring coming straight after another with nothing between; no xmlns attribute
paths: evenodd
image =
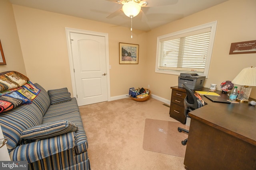
<svg viewBox="0 0 256 170"><path fill-rule="evenodd" d="M41 91L32 104L20 105L0 113L0 124L4 137L8 139L6 146L9 151L21 142L22 131L42 124L43 115L50 106L50 98L46 90L39 84L34 85Z"/></svg>

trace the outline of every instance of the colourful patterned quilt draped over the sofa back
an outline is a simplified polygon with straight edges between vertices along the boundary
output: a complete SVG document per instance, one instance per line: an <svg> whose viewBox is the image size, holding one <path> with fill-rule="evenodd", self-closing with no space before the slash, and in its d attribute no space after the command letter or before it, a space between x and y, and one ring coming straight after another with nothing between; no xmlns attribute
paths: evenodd
<svg viewBox="0 0 256 170"><path fill-rule="evenodd" d="M20 104L30 104L39 92L40 89L19 72L0 73L0 112L13 109Z"/></svg>

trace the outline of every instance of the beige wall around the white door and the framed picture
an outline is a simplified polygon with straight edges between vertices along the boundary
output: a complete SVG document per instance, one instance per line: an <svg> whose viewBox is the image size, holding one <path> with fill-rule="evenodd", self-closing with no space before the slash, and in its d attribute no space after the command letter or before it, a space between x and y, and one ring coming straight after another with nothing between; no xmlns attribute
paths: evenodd
<svg viewBox="0 0 256 170"><path fill-rule="evenodd" d="M108 33L111 96L145 84L146 33L106 23L13 5L28 77L46 90L72 92L65 27ZM119 64L119 42L138 44L139 64Z"/></svg>

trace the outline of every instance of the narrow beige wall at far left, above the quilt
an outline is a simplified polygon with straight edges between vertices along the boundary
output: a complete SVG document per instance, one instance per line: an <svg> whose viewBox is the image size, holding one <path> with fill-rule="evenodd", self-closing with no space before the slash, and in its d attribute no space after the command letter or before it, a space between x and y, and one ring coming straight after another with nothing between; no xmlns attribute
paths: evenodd
<svg viewBox="0 0 256 170"><path fill-rule="evenodd" d="M26 75L12 4L8 0L0 0L0 21L0 40L6 61L6 65L0 65L0 72L15 70Z"/></svg>

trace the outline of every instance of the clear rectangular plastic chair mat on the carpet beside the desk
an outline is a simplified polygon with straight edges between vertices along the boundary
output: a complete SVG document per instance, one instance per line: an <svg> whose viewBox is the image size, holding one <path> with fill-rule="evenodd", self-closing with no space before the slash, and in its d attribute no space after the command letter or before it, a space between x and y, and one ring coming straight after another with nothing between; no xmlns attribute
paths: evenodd
<svg viewBox="0 0 256 170"><path fill-rule="evenodd" d="M181 141L188 135L179 133L178 127L188 129L180 122L146 119L143 149L184 157L186 146L183 146Z"/></svg>

